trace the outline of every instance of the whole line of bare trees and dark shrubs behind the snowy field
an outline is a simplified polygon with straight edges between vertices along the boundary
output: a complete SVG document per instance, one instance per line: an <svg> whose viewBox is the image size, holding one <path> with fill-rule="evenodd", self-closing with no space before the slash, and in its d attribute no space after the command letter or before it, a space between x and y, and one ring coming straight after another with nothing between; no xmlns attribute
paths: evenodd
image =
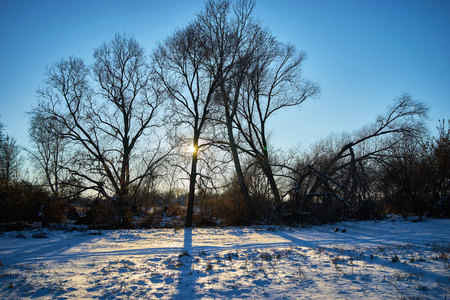
<svg viewBox="0 0 450 300"><path fill-rule="evenodd" d="M442 121L429 137L427 107L409 94L307 152L270 143L271 116L320 89L302 74L305 53L274 37L253 9L253 1L206 1L150 55L116 34L92 64L69 57L48 67L29 112L39 185L4 173L2 160L0 222L78 215L129 228L448 216L449 129ZM2 136L2 149L8 144Z"/></svg>

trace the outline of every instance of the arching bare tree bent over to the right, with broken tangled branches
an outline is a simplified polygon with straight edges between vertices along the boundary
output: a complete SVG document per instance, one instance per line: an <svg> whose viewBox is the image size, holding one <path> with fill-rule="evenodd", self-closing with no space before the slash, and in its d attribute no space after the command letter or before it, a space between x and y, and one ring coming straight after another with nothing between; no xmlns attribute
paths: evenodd
<svg viewBox="0 0 450 300"><path fill-rule="evenodd" d="M336 206L352 213L365 201L374 201L379 192L373 192L376 187L370 186L375 181L370 173L379 172L377 165L385 164L393 153L403 152L410 143L405 141L420 138L426 117L427 107L403 94L376 122L354 134L319 143L313 155L292 170L297 174L296 206L311 199L323 199L324 204L333 200Z"/></svg>

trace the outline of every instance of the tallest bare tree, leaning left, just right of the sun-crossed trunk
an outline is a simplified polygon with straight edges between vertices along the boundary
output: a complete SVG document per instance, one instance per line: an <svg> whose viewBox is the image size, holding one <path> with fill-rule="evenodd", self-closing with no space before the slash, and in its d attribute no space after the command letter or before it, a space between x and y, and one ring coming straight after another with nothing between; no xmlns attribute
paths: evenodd
<svg viewBox="0 0 450 300"><path fill-rule="evenodd" d="M236 139L238 133L235 132L233 119L237 113L244 78L254 58L252 54L264 32L261 22L252 16L254 6L252 0L211 0L206 2L205 10L199 15L201 28L208 37L208 53L211 53L206 68L219 77L215 91L215 104L218 107L214 119L224 125L226 131L226 137L222 140L216 133L210 139L212 144L222 149L225 146L231 152L235 178L251 215L254 215L254 208L244 179Z"/></svg>

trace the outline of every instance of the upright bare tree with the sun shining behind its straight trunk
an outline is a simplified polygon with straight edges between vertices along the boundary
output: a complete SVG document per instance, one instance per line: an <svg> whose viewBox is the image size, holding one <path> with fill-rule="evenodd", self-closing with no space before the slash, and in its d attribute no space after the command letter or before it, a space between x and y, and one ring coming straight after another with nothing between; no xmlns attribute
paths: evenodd
<svg viewBox="0 0 450 300"><path fill-rule="evenodd" d="M169 111L173 125L187 128L192 138L186 227L192 227L198 155L204 147L200 141L210 120L210 106L219 80L205 69L210 53L200 27L197 20L175 31L154 53L155 74L172 100Z"/></svg>

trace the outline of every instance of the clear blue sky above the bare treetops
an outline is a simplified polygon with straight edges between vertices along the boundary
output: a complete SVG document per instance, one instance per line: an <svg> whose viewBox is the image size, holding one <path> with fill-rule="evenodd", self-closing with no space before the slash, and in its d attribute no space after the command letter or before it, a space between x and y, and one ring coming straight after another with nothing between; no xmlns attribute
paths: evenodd
<svg viewBox="0 0 450 300"><path fill-rule="evenodd" d="M28 143L25 112L36 105L45 67L68 56L92 62L116 32L148 53L187 24L203 1L0 0L0 121ZM430 129L450 118L450 1L257 0L256 16L308 54L305 76L321 97L279 113L274 143L304 146L375 120L409 92L430 106Z"/></svg>

